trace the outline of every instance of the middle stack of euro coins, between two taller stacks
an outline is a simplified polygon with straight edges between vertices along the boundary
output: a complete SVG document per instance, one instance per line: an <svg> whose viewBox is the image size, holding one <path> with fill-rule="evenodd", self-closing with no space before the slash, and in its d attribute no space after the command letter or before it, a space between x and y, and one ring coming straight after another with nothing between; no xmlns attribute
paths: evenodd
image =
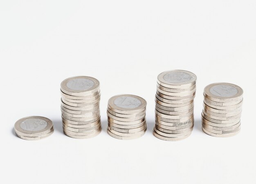
<svg viewBox="0 0 256 184"><path fill-rule="evenodd" d="M108 134L121 140L141 137L147 130L146 100L135 95L116 95L108 100Z"/></svg>

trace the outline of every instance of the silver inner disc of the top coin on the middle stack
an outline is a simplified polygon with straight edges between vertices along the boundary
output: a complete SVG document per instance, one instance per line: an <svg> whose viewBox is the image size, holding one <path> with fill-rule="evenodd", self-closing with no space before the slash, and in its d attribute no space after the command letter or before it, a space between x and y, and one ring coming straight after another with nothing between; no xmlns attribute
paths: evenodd
<svg viewBox="0 0 256 184"><path fill-rule="evenodd" d="M141 101L138 98L122 96L115 99L114 104L124 109L134 109L141 105Z"/></svg>

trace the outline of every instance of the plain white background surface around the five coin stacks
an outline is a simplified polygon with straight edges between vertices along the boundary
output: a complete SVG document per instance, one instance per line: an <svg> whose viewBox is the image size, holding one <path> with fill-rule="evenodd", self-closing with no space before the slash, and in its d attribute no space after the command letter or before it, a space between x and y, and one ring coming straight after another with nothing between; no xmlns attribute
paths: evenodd
<svg viewBox="0 0 256 184"><path fill-rule="evenodd" d="M255 183L255 0L13 0L0 2L1 183ZM157 75L195 73L195 126L189 138L153 136ZM103 131L77 140L62 132L60 83L101 82ZM202 132L202 93L213 82L244 90L235 137ZM108 99L130 93L148 102L148 131L122 141L107 132ZM53 120L55 132L22 140L14 123Z"/></svg>

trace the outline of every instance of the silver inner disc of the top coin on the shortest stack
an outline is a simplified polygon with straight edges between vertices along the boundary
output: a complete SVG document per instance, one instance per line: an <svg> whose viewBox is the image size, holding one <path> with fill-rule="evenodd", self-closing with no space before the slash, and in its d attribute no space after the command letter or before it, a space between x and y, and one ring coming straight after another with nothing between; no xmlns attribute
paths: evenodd
<svg viewBox="0 0 256 184"><path fill-rule="evenodd" d="M26 119L20 123L20 128L27 131L40 131L45 129L47 122L38 118Z"/></svg>

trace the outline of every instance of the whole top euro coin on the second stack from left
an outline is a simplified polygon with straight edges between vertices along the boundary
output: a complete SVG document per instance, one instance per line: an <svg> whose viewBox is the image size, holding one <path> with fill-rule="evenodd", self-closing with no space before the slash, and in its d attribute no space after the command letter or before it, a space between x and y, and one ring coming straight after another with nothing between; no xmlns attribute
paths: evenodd
<svg viewBox="0 0 256 184"><path fill-rule="evenodd" d="M91 95L99 91L99 80L88 76L77 76L63 80L61 91L72 96Z"/></svg>

